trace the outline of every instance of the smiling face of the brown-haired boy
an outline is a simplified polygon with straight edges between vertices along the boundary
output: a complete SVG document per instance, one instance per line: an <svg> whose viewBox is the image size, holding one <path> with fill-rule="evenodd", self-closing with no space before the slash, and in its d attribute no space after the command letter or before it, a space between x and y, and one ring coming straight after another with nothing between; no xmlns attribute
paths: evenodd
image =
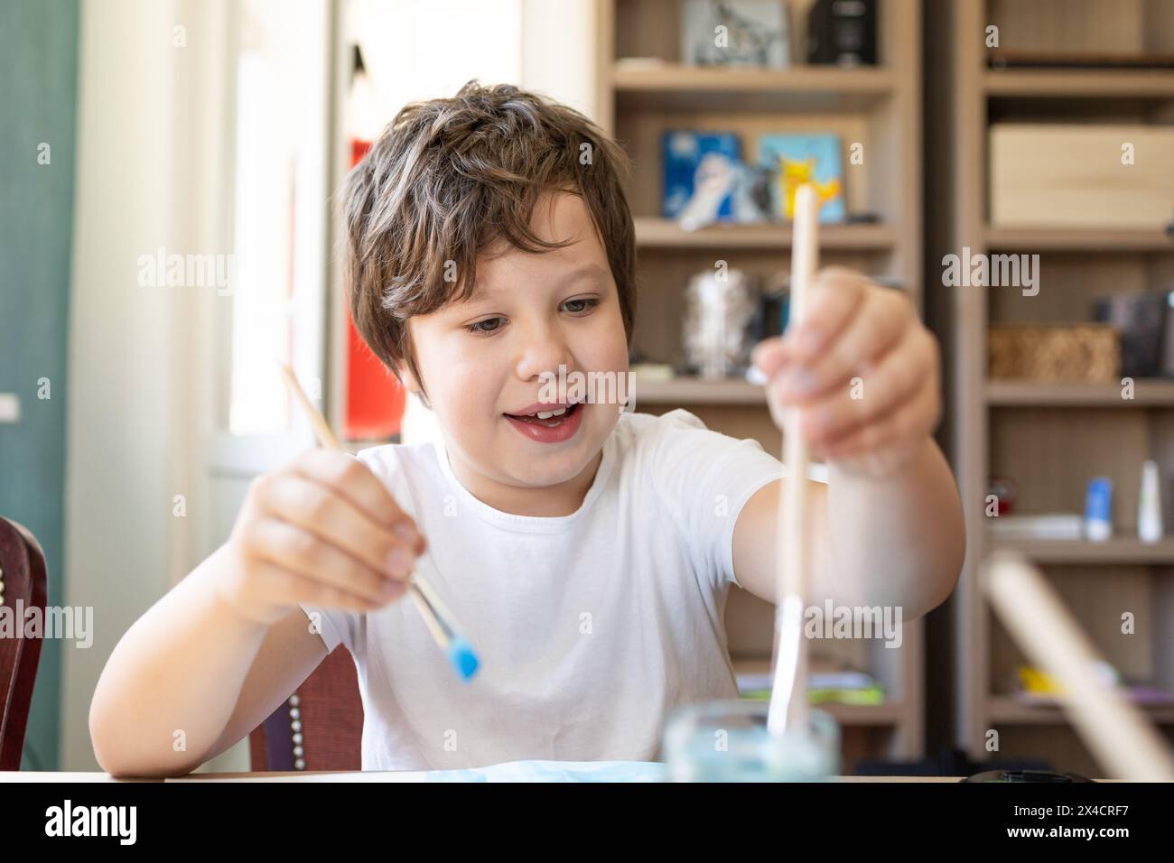
<svg viewBox="0 0 1174 863"><path fill-rule="evenodd" d="M423 383L453 471L491 505L513 506L519 490L574 484L593 472L620 405L585 404L586 389L575 392L573 373L619 379L628 369L615 279L586 204L548 193L531 230L544 241L573 242L545 254L502 244L502 254L478 258L468 301L407 324L423 380L409 373L405 382L413 391ZM558 380L560 365L571 376L561 403L554 386L544 386L548 376ZM526 416L564 409L548 419Z"/></svg>

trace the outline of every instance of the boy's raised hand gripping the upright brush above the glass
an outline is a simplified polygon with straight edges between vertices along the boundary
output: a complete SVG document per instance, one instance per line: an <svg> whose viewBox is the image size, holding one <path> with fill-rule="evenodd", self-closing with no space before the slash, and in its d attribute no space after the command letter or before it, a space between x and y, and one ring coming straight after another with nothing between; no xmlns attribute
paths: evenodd
<svg viewBox="0 0 1174 863"><path fill-rule="evenodd" d="M940 350L898 290L843 268L821 271L804 321L754 350L775 424L802 407L815 457L883 478L942 414Z"/></svg>

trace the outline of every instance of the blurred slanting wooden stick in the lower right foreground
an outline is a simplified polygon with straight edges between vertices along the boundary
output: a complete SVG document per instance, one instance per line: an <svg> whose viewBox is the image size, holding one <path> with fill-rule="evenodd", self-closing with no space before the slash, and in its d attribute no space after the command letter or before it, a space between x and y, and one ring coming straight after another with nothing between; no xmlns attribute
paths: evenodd
<svg viewBox="0 0 1174 863"><path fill-rule="evenodd" d="M994 552L983 566L991 605L1024 653L1065 688L1061 704L1112 778L1174 782L1167 744L1094 667L1095 648L1039 571L1016 552Z"/></svg>

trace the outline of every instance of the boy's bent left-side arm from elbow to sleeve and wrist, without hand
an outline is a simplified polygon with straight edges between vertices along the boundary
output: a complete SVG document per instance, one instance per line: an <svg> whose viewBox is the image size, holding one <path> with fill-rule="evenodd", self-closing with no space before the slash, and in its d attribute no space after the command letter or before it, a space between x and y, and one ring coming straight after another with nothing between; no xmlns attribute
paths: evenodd
<svg viewBox="0 0 1174 863"><path fill-rule="evenodd" d="M211 577L230 565L227 553L156 602L107 661L89 710L107 773L190 773L256 728L325 658L299 608L266 626L220 599Z"/></svg>

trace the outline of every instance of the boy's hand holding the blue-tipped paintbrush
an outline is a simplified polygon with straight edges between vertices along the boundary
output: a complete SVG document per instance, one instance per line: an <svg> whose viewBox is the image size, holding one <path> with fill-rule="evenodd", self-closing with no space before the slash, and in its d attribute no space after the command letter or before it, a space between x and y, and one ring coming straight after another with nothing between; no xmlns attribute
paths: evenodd
<svg viewBox="0 0 1174 863"><path fill-rule="evenodd" d="M274 623L299 602L367 612L403 596L424 552L416 525L366 465L309 450L252 481L228 551L221 596Z"/></svg>

